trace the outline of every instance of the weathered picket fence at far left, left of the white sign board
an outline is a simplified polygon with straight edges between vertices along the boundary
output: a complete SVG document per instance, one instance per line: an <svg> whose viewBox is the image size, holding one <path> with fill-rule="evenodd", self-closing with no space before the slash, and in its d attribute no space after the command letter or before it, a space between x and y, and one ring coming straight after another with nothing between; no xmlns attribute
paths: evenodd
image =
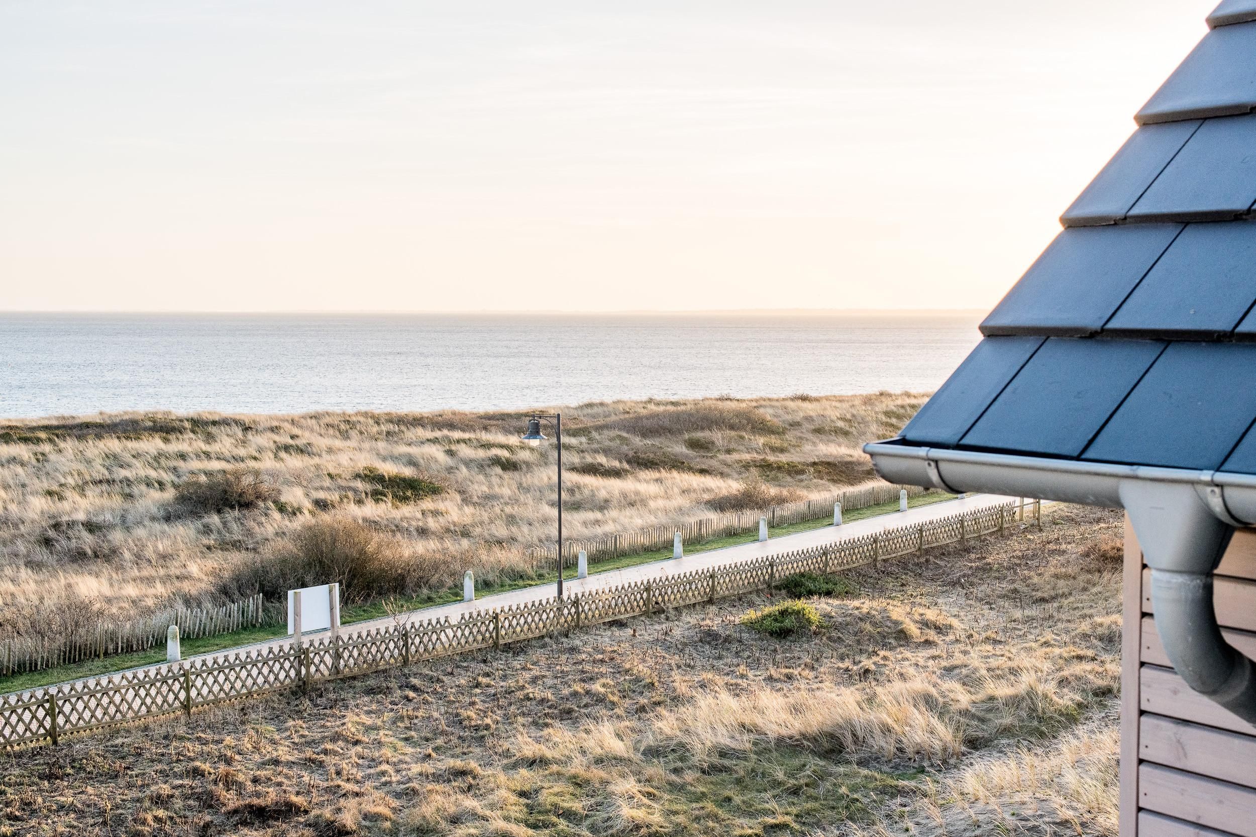
<svg viewBox="0 0 1256 837"><path fill-rule="evenodd" d="M72 636L5 636L0 637L0 675L147 651L166 642L166 629L171 625L178 625L182 639L200 639L279 624L283 617L283 605L268 606L257 594L220 607L170 609L123 622L100 622Z"/></svg>

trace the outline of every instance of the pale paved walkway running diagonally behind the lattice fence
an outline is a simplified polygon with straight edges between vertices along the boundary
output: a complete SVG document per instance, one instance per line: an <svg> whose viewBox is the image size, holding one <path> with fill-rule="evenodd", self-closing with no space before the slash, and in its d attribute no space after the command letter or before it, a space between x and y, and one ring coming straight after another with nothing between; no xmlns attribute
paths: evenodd
<svg viewBox="0 0 1256 837"><path fill-rule="evenodd" d="M960 514L962 512L978 511L982 508L988 508L991 506L999 506L1002 503L1012 502L1015 499L1016 499L1015 497L1002 497L1000 494L973 494L971 497L965 497L962 499L950 499L939 503L929 503L927 506L919 506L917 508L909 508L906 512L878 514L877 517L868 517L862 521L845 523L843 526L825 526L806 532L799 532L796 535L785 535L781 537L774 537L764 542L754 541L751 543L728 546L721 550L708 550L706 552L686 555L685 557L681 558L667 558L663 561L652 561L651 563L639 563L633 567L624 567L623 570L595 572L587 578L564 580L563 594L565 596L571 596L578 592L589 592L594 590L603 590L607 587L617 587L619 585L624 585L631 581L642 581L646 578L662 578L671 575L690 572L692 570L706 570L707 567L717 565L732 563L735 561L744 561L746 558L779 555L781 552L805 550L813 546L823 546L825 543L836 543L839 541L859 537L860 535L870 535L873 532L880 532L887 528L898 528L901 526L914 526L917 523L927 523L928 521L933 521L939 517L948 517L951 514ZM1026 512L1029 509L1026 509ZM549 599L554 596L555 592L554 587L555 586L553 584L538 585L534 587L522 587L520 590L511 590L509 592L500 592L490 596L484 596L482 599L477 599L476 601L472 602L460 601L450 605L436 605L432 607L412 610L399 615L397 619L420 622L420 621L426 621L428 619L443 619L448 616L451 621L456 622L458 620L458 616L476 610L491 610L495 607L504 607L507 605L521 605L543 599ZM373 619L363 622L353 622L350 625L345 625L342 629L342 631L345 635L348 635L372 627L389 627L394 624L396 619L393 616L383 616L381 619ZM306 637L319 636L320 634L325 634L325 631L306 632L304 634L304 636ZM254 650L259 648L265 648L268 645L288 645L288 644L289 644L288 637L278 637L274 640L268 640L265 642L255 642L252 645L240 645L231 649L224 649L221 651L197 654L195 656L226 658L245 650ZM190 656L185 659L193 659L193 658ZM139 668L163 669L166 668L166 664L161 663L151 666L139 666ZM113 671L111 674L119 674L119 673ZM94 675L92 678L80 678L80 679L92 680L98 676L109 676L109 675ZM68 683L73 683L73 680ZM43 688L33 689L28 694L38 695L41 691Z"/></svg>

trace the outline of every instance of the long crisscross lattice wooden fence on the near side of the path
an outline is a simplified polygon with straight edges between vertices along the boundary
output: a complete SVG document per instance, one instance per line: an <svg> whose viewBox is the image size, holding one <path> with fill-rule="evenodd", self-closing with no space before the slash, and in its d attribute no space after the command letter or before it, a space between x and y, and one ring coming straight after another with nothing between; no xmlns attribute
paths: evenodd
<svg viewBox="0 0 1256 837"><path fill-rule="evenodd" d="M1040 504L1006 503L916 526L781 555L737 561L525 605L481 610L423 622L322 637L299 646L268 645L182 664L0 695L0 744L58 743L63 735L182 713L279 689L309 689L317 680L347 678L417 660L500 648L507 642L580 629L614 619L649 615L668 607L769 590L799 572L835 572L884 558L922 552L1016 527Z"/></svg>

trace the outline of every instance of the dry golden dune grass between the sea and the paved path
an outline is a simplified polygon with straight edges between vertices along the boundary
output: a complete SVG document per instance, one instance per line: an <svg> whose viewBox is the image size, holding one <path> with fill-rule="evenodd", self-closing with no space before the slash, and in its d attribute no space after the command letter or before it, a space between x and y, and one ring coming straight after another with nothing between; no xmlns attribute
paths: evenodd
<svg viewBox="0 0 1256 837"><path fill-rule="evenodd" d="M859 444L897 432L922 400L568 408L566 532L604 535L863 482L872 472ZM148 413L0 423L0 630L210 601L268 578L283 589L319 568L291 556L320 537L355 537L376 592L441 587L468 567L487 581L526 575L522 550L553 537L554 450L519 442L524 419ZM372 543L363 527L377 533Z"/></svg>

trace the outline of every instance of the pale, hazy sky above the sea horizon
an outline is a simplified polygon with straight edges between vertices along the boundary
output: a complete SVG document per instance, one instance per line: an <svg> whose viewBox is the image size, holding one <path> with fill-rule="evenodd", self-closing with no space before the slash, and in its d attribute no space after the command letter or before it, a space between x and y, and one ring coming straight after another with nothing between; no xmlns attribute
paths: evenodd
<svg viewBox="0 0 1256 837"><path fill-rule="evenodd" d="M0 0L0 310L988 309L1213 0Z"/></svg>

